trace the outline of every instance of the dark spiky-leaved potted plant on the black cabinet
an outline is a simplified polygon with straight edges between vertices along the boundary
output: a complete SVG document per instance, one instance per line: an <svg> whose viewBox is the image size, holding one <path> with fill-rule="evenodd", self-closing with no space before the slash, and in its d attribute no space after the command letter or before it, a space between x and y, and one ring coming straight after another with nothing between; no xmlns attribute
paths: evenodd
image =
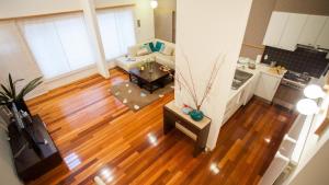
<svg viewBox="0 0 329 185"><path fill-rule="evenodd" d="M22 109L27 112L30 115L30 111L25 104L24 96L33 91L36 86L38 86L43 77L38 77L31 82L29 82L25 86L22 88L20 92L16 90L16 83L23 81L24 79L12 80L11 74L8 74L8 85L1 84L0 89L0 105L7 105L11 109L11 103L13 102L18 109Z"/></svg>

